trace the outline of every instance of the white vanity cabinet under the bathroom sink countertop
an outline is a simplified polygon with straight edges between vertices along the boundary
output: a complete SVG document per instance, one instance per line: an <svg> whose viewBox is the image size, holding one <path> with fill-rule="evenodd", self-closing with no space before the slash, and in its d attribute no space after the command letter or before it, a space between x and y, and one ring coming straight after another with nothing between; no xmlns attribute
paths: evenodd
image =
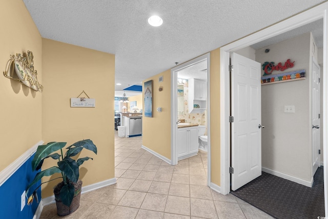
<svg viewBox="0 0 328 219"><path fill-rule="evenodd" d="M178 160L194 156L198 153L197 126L178 128Z"/></svg>

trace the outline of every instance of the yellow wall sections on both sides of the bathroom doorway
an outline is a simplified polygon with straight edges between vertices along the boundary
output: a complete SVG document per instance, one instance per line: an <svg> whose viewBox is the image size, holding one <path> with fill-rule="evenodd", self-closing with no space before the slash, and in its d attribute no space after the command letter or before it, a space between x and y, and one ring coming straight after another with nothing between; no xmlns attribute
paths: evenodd
<svg viewBox="0 0 328 219"><path fill-rule="evenodd" d="M220 49L211 51L211 182L220 186ZM160 85L158 77L165 79ZM171 70L157 74L144 81L153 80L153 118L142 122L142 144L171 160ZM156 111L162 107L163 112Z"/></svg>

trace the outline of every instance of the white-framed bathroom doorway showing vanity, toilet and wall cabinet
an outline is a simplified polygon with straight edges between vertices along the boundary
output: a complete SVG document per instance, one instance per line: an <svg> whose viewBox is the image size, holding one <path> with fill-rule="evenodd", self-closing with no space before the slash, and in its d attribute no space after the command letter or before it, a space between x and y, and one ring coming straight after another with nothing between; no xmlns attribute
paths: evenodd
<svg viewBox="0 0 328 219"><path fill-rule="evenodd" d="M191 162L202 162L208 173L211 170L209 63L208 53L171 69L171 164L186 162L188 158Z"/></svg>

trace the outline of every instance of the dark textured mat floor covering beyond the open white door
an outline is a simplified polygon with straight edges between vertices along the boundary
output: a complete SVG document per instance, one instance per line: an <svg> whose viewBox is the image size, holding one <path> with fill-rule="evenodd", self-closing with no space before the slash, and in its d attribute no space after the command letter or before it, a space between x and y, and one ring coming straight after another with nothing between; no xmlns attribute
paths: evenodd
<svg viewBox="0 0 328 219"><path fill-rule="evenodd" d="M312 188L262 172L231 193L276 218L324 216L323 167L314 175Z"/></svg>

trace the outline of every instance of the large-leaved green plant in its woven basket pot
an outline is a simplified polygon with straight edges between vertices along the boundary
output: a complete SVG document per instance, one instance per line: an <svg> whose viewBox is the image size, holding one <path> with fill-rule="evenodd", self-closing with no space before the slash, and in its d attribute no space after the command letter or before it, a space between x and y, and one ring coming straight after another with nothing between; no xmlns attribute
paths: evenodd
<svg viewBox="0 0 328 219"><path fill-rule="evenodd" d="M73 156L77 155L84 148L97 154L97 147L90 139L78 141L67 147L67 150L64 154L63 148L65 145L66 142L50 142L46 145L39 145L37 147L32 160L33 171L39 170L42 167L44 160L48 157L51 157L55 160L58 159L58 166L50 167L46 170L38 172L35 175L32 183L26 189L26 194L29 194L29 189L31 186L36 184L43 176L50 176L55 173L61 173L61 176L57 178L62 178L63 181L54 187L57 214L59 216L73 213L79 207L79 197L82 187L82 181L78 180L79 166L89 159L93 160L88 156L74 160ZM56 153L58 150L60 150L60 154ZM56 180L57 178L54 178L50 181ZM43 182L42 184L47 182ZM28 198L28 205L33 202L34 198L37 200L36 190L41 185L39 185Z"/></svg>

